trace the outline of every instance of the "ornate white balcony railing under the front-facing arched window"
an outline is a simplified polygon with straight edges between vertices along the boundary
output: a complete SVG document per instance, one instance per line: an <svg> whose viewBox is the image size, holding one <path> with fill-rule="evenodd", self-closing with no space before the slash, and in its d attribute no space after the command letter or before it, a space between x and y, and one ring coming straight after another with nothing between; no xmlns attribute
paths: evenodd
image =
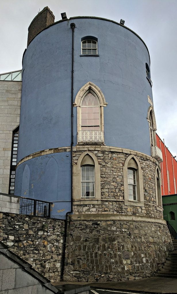
<svg viewBox="0 0 177 294"><path fill-rule="evenodd" d="M78 131L78 142L103 142L103 131Z"/></svg>

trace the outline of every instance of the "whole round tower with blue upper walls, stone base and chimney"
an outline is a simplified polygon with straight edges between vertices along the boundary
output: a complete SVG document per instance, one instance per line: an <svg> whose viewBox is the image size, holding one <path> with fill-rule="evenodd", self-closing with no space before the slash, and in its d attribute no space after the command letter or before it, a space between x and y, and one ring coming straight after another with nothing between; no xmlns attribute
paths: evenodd
<svg viewBox="0 0 177 294"><path fill-rule="evenodd" d="M66 218L64 280L148 277L172 248L149 52L123 20L62 17L29 26L15 195Z"/></svg>

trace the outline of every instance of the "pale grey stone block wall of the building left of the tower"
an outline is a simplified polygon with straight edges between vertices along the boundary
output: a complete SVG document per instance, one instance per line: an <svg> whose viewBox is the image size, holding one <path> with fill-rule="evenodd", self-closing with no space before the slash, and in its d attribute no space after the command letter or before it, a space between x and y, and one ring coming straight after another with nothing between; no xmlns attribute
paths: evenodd
<svg viewBox="0 0 177 294"><path fill-rule="evenodd" d="M0 192L9 191L12 131L19 125L21 83L0 81Z"/></svg>

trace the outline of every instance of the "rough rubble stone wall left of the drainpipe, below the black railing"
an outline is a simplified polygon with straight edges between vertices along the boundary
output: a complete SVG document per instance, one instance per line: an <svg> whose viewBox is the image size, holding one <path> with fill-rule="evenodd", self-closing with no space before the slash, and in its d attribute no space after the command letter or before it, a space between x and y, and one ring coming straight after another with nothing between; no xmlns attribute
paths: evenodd
<svg viewBox="0 0 177 294"><path fill-rule="evenodd" d="M60 281L64 220L0 213L0 241L51 282Z"/></svg>

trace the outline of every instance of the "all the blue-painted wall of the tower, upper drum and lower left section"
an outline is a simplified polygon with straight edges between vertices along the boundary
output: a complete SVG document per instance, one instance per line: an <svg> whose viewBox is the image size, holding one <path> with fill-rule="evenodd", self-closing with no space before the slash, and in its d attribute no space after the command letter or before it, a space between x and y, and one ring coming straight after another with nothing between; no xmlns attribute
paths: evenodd
<svg viewBox="0 0 177 294"><path fill-rule="evenodd" d="M74 98L88 81L96 84L108 103L104 107L104 143L151 155L146 117L152 90L146 79L145 64L150 65L150 60L145 44L113 22L75 18L42 31L24 55L18 162L31 153L71 144L71 22L76 24ZM88 35L98 38L99 56L80 56L81 38ZM76 145L76 107L73 111ZM15 194L53 201L52 215L63 217L70 210L69 161L70 154L55 153L20 164Z"/></svg>

